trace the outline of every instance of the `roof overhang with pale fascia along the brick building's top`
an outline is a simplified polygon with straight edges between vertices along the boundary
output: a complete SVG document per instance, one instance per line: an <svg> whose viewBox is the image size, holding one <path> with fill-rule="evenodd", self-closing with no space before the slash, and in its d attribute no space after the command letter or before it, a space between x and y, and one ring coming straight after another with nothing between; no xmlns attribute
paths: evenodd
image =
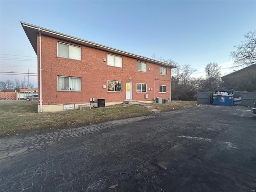
<svg viewBox="0 0 256 192"><path fill-rule="evenodd" d="M73 36L70 36L70 35L66 35L66 34L63 34L63 33L60 33L60 32L56 32L56 31L53 31L53 30L42 28L42 27L32 25L32 24L29 24L29 23L25 23L25 22L22 22L22 21L20 23L21 23L22 28L24 29L32 47L34 48L34 51L36 52L36 54L37 54L37 35L39 34L39 30L40 30L41 35L45 35L45 36L49 36L49 37L52 37L52 38L64 40L64 41L67 41L67 42L80 44L80 45L87 46L87 47L96 48L96 49L99 49L99 50L119 54L119 55L122 55L122 56L127 56L127 57L130 57L130 58L135 58L137 60L144 61L144 62L150 62L150 63L166 66L166 67L169 67L169 68L176 68L176 66L165 63L165 62L160 62L158 60L154 60L154 59L147 58L147 57L144 57L144 56L132 54L132 53L129 53L129 52L118 50L118 49L108 47L108 46L105 46L105 45L101 45L101 44L98 44L98 43L94 43L92 41L76 38L76 37L73 37Z"/></svg>

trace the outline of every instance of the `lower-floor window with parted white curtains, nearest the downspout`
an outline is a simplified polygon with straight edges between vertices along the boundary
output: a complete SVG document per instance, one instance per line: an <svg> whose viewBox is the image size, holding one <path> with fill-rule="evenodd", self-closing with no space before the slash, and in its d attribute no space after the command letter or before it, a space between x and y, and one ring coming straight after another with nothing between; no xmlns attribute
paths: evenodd
<svg viewBox="0 0 256 192"><path fill-rule="evenodd" d="M81 91L81 78L58 76L58 91Z"/></svg>

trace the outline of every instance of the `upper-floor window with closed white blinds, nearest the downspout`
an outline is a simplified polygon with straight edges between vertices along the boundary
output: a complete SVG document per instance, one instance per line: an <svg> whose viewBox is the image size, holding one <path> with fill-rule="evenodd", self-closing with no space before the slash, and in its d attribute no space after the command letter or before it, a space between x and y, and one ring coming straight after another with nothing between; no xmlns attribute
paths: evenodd
<svg viewBox="0 0 256 192"><path fill-rule="evenodd" d="M61 42L57 42L57 45L58 45L58 51L57 51L58 57L81 60L81 47L69 45Z"/></svg>

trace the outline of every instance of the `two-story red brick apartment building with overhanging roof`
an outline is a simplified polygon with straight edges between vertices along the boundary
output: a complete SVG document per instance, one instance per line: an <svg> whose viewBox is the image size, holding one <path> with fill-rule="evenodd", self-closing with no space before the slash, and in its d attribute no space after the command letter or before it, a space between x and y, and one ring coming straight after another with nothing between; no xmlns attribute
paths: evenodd
<svg viewBox="0 0 256 192"><path fill-rule="evenodd" d="M38 112L171 98L175 66L21 22L38 56ZM68 107L67 107L68 106Z"/></svg>

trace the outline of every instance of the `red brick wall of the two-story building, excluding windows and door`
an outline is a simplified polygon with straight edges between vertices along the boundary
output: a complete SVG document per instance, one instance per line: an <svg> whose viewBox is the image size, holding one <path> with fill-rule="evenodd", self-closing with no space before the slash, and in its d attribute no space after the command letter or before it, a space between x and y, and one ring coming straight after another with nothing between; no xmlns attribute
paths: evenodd
<svg viewBox="0 0 256 192"><path fill-rule="evenodd" d="M39 38L38 38L39 39ZM68 104L89 102L90 98L105 98L105 102L121 102L126 100L126 82L132 82L132 99L145 100L144 94L148 94L147 100L154 98L154 78L155 97L168 99L170 97L170 72L167 68L167 76L159 74L159 65L147 63L147 72L136 70L136 59L122 56L122 68L108 66L103 58L107 59L107 54L113 54L81 46L82 60L72 60L57 57L57 39L42 36L42 103L43 104ZM121 56L118 54L114 54ZM39 40L38 40L38 69L39 69ZM39 70L38 70L39 73ZM57 76L71 76L82 78L81 92L61 92L57 91ZM38 74L38 96L40 95L40 82ZM129 79L130 78L130 79ZM108 92L107 80L122 81L122 92ZM146 83L147 93L136 93L136 83ZM106 88L103 88L106 85ZM159 85L167 86L167 93L159 93ZM38 99L39 102L39 99Z"/></svg>

